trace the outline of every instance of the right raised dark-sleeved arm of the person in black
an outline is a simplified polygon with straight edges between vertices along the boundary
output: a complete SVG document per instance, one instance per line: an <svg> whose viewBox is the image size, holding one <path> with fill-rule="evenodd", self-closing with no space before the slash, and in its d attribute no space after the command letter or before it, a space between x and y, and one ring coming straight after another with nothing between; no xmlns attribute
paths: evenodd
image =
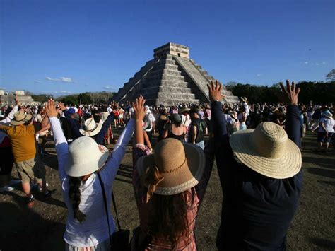
<svg viewBox="0 0 335 251"><path fill-rule="evenodd" d="M288 139L292 140L300 148L300 114L298 110L298 94L300 92L300 88L296 88L294 82L290 85L290 81L286 80L286 88L284 88L281 83L281 90L281 100L283 100L283 103L288 105L285 127Z"/></svg>

